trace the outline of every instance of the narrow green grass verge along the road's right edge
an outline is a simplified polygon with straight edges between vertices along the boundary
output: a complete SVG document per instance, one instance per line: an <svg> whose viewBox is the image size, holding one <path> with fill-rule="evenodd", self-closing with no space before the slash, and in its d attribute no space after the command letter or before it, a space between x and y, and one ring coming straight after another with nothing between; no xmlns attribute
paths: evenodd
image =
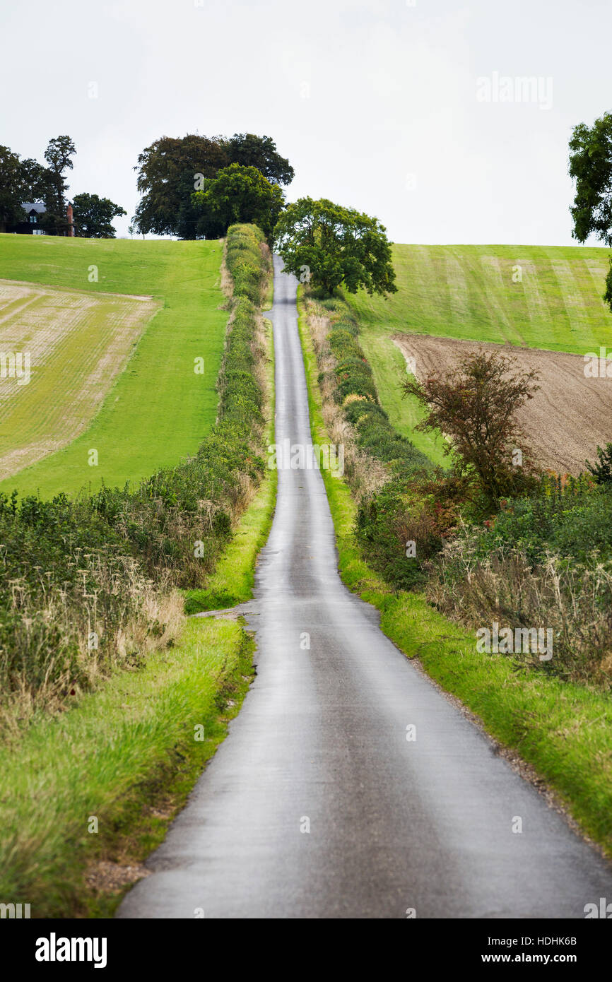
<svg viewBox="0 0 612 982"><path fill-rule="evenodd" d="M329 441L318 369L300 303L312 439ZM584 832L612 856L612 699L596 690L521 670L503 656L479 654L475 634L417 593L393 592L362 559L353 528L356 505L344 480L322 471L336 529L340 574L381 614L380 627L427 674L458 696L486 731L516 750L557 792Z"/></svg>

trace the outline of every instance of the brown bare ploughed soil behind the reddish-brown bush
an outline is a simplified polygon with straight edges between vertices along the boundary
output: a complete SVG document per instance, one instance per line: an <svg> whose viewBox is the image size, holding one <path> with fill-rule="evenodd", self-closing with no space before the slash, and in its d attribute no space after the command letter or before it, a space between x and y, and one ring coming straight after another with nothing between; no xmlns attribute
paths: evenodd
<svg viewBox="0 0 612 982"><path fill-rule="evenodd" d="M394 334L417 378L452 369L469 351L502 352L518 367L539 372L540 389L519 414L537 463L558 473L578 474L594 460L597 446L612 441L612 378L585 378L584 357L513 345L476 344L425 334Z"/></svg>

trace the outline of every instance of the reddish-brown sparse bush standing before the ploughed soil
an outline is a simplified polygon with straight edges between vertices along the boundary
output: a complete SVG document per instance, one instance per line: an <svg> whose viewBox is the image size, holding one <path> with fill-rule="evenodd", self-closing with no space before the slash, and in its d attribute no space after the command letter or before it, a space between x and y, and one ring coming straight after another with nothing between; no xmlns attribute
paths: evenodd
<svg viewBox="0 0 612 982"><path fill-rule="evenodd" d="M537 378L535 370L519 369L516 358L480 351L463 355L450 372L403 382L404 395L425 409L417 429L449 438L445 452L457 455L460 472L475 480L487 508L534 483L533 455L517 412L539 389Z"/></svg>

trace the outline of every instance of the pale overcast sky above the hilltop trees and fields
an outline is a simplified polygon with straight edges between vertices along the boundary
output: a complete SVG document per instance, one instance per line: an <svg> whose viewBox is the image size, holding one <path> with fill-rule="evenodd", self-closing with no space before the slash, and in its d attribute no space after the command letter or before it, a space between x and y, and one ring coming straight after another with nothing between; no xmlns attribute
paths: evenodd
<svg viewBox="0 0 612 982"><path fill-rule="evenodd" d="M144 146L250 132L395 242L576 245L568 139L612 110L610 0L3 0L0 36L0 143L69 134L69 195L129 218Z"/></svg>

